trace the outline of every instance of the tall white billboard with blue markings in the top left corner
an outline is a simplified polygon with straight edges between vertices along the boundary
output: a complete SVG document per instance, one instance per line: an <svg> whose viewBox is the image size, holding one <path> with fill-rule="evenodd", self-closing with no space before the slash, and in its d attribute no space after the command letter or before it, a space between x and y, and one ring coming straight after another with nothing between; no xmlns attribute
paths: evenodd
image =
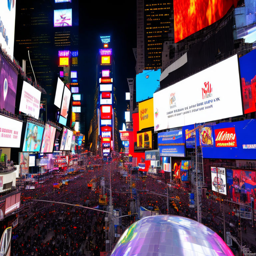
<svg viewBox="0 0 256 256"><path fill-rule="evenodd" d="M0 44L13 59L16 1L0 1Z"/></svg>

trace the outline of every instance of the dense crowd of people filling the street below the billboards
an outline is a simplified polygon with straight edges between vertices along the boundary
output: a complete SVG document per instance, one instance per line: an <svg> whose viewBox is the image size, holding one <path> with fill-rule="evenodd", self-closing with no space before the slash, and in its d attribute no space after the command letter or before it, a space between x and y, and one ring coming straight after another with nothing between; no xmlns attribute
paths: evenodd
<svg viewBox="0 0 256 256"><path fill-rule="evenodd" d="M99 255L100 251L105 251L106 213L81 206L99 207L99 195L105 193L109 196L109 191L103 190L100 186L102 177L105 186L110 185L109 170L111 170L113 208L119 210L122 216L133 214L132 206L137 207L136 211L143 206L146 209L159 211L159 214L168 213L197 219L196 208L189 208L189 195L185 189L170 186L169 207L167 207L166 183L159 177L133 174L131 184L131 177L122 175L116 159L104 163L99 157L89 157L86 162L87 166L82 172L66 173L63 176L49 175L45 177L43 183L38 183L35 189L22 190L22 205L28 207L21 212L23 222L13 229L11 255ZM69 180L67 185L64 184L59 189L53 187L53 184L63 179ZM91 182L96 184L93 189L88 188L88 183ZM33 199L77 206L44 203ZM224 239L221 207L224 207L225 211L226 231L230 231L240 243L239 218L230 210L230 205L221 206L213 195L202 198L202 223ZM102 206L102 209L107 208ZM122 233L137 219L136 217L135 215L123 217L122 226L115 232ZM242 220L243 234L250 226L249 220ZM118 238L115 242L117 240ZM242 245L256 252L255 244L247 241L246 236L242 239Z"/></svg>

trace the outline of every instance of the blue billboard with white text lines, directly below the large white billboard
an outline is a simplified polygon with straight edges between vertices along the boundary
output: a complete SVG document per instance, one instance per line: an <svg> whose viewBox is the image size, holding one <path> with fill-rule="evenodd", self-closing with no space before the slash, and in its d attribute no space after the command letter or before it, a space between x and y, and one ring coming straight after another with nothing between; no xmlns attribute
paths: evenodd
<svg viewBox="0 0 256 256"><path fill-rule="evenodd" d="M182 130L158 133L160 156L185 156L185 142Z"/></svg>

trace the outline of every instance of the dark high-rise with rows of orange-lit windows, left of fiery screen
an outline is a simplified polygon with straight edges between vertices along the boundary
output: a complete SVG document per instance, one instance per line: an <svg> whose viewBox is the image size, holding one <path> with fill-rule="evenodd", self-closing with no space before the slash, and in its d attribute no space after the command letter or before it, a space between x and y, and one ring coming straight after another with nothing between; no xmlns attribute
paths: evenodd
<svg viewBox="0 0 256 256"><path fill-rule="evenodd" d="M161 68L172 6L171 0L137 0L137 74Z"/></svg>

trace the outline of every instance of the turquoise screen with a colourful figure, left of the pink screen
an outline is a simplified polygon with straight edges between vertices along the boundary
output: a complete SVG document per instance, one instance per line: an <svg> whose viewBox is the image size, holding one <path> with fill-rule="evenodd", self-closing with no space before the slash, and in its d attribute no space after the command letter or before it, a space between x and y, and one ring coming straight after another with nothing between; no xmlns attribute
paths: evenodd
<svg viewBox="0 0 256 256"><path fill-rule="evenodd" d="M43 132L44 127L32 123L27 123L22 151L39 152L42 143Z"/></svg>

